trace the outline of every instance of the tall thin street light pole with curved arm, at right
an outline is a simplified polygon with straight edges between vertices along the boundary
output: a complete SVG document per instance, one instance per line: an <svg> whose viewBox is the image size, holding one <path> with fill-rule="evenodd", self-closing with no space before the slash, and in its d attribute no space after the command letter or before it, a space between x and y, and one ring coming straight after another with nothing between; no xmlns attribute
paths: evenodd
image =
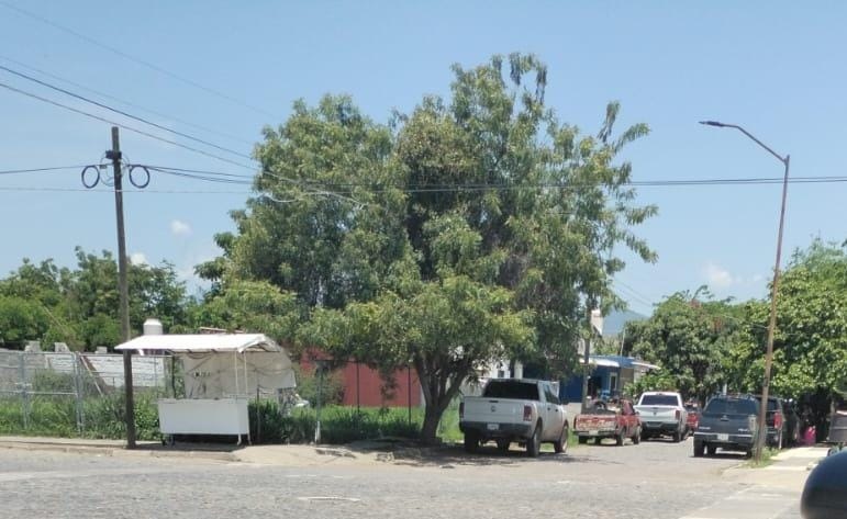
<svg viewBox="0 0 847 519"><path fill-rule="evenodd" d="M773 266L773 283L771 284L771 294L770 294L770 321L768 323L768 345L767 345L767 349L765 350L765 379L761 384L761 408L759 409L759 431L756 438L756 449L755 449L756 461L761 461L761 452L765 447L765 439L768 436L768 426L765 420L766 420L766 415L768 410L768 390L770 388L770 366L773 360L773 332L777 328L777 294L779 291L779 264L780 264L780 260L782 259L782 230L785 226L785 199L788 196L788 171L789 171L789 165L791 163L791 156L785 155L785 157L782 157L781 155L779 155L778 153L773 151L768 146L766 146L765 143L754 137L749 132L738 126L737 124L724 124L724 123L718 123L717 121L701 121L700 124L705 124L706 126L716 126L718 128L735 128L742 132L744 135L748 136L756 144L758 144L759 146L768 150L770 155L777 157L777 159L779 159L779 161L785 166L785 174L782 179L782 205L779 211L779 233L777 234L777 259ZM777 435L777 438L779 438L779 435Z"/></svg>

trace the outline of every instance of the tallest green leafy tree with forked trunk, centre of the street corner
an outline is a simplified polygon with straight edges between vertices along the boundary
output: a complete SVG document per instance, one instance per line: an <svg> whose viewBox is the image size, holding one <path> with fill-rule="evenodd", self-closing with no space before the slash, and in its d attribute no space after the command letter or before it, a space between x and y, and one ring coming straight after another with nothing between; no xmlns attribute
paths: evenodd
<svg viewBox="0 0 847 519"><path fill-rule="evenodd" d="M534 56L454 74L448 99L389 125L348 98L298 102L265 131L257 196L233 213L236 234L219 236L224 257L199 268L297 294L301 343L385 371L414 365L427 441L487 362L571 369L587 309L620 303L615 247L654 259L632 227L655 207L634 203L617 158L645 125L615 136L616 103L595 136L560 123Z"/></svg>

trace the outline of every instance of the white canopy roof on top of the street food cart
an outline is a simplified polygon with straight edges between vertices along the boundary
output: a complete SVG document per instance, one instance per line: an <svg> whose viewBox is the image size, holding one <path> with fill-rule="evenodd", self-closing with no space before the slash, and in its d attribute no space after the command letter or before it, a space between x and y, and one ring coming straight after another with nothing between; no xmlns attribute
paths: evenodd
<svg viewBox="0 0 847 519"><path fill-rule="evenodd" d="M118 351L164 350L175 353L283 351L264 334L145 335L114 348Z"/></svg>

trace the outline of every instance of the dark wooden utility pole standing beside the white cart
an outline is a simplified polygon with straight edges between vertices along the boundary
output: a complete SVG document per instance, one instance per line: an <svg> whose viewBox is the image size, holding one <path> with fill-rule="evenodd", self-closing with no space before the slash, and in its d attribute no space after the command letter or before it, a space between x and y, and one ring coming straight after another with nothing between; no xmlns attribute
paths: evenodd
<svg viewBox="0 0 847 519"><path fill-rule="evenodd" d="M123 179L118 126L112 126L112 149L105 153L114 172L114 212L118 219L118 284L121 307L121 340L130 340L130 290L126 281L126 235L123 228ZM135 398L132 383L132 353L123 352L123 388L126 400L126 448L135 448Z"/></svg>

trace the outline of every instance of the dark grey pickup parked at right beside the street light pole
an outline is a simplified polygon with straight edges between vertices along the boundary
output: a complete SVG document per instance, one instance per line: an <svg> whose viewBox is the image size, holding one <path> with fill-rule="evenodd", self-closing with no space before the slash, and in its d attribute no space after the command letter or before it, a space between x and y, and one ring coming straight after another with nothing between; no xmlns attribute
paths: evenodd
<svg viewBox="0 0 847 519"><path fill-rule="evenodd" d="M694 456L714 455L718 448L751 454L759 431L759 402L747 395L709 400L694 432Z"/></svg>

